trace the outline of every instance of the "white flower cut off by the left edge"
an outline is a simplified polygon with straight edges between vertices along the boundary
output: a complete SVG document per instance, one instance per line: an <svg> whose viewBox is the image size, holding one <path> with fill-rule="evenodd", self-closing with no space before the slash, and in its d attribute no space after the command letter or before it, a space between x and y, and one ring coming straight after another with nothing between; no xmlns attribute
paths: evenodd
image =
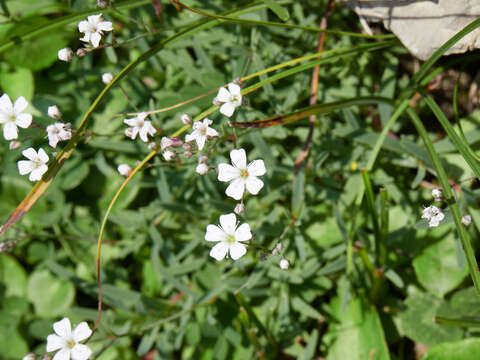
<svg viewBox="0 0 480 360"><path fill-rule="evenodd" d="M17 126L25 129L32 123L32 115L24 113L27 106L28 102L23 96L20 96L15 104L12 104L7 94L0 97L0 124L3 124L5 140L18 138Z"/></svg>

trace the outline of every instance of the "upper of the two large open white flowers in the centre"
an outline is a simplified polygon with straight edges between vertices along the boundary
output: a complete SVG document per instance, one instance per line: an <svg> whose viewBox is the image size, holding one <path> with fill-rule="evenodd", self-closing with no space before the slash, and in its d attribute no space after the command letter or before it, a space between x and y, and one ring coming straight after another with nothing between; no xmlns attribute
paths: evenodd
<svg viewBox="0 0 480 360"><path fill-rule="evenodd" d="M240 200L246 187L250 194L257 195L263 187L263 181L257 176L265 175L267 172L263 160L253 160L247 165L247 155L243 149L232 150L230 159L233 166L226 163L218 165L218 180L231 181L225 194Z"/></svg>

